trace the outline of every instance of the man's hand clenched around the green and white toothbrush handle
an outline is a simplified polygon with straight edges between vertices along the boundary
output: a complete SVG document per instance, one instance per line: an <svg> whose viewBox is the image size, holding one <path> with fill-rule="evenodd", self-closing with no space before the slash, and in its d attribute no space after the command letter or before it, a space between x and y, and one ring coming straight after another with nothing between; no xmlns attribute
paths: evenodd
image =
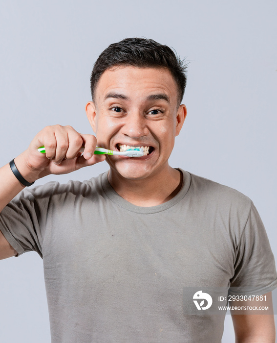
<svg viewBox="0 0 277 343"><path fill-rule="evenodd" d="M33 182L49 174L66 174L104 161L105 155L93 154L96 145L95 136L78 133L71 126L46 126L15 158L15 164L21 175ZM37 150L42 146L45 154ZM83 155L81 147L85 147Z"/></svg>

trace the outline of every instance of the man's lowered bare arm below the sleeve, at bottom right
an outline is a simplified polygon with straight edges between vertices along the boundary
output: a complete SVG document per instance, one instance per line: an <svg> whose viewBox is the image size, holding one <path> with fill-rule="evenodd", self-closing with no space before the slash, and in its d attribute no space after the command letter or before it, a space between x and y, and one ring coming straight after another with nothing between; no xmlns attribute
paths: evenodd
<svg viewBox="0 0 277 343"><path fill-rule="evenodd" d="M234 324L235 343L275 343L275 323L272 294L266 295L266 301L232 301L230 306L259 307L268 306L270 314L254 314L255 311L231 311ZM265 312L263 312L265 313Z"/></svg>

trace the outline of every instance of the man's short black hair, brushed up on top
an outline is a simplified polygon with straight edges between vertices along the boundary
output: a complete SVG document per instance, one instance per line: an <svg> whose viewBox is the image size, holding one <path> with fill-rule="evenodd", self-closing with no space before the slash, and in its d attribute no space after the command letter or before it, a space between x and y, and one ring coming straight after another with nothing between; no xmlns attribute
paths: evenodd
<svg viewBox="0 0 277 343"><path fill-rule="evenodd" d="M166 45L152 39L126 38L107 47L97 58L90 77L91 97L101 75L114 66L135 66L140 68L167 68L178 89L178 105L181 103L187 84L187 65L184 60Z"/></svg>

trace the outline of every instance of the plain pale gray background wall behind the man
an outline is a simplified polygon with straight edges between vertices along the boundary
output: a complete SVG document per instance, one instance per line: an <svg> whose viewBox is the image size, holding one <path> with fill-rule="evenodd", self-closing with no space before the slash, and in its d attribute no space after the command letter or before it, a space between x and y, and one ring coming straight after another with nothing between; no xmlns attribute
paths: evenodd
<svg viewBox="0 0 277 343"><path fill-rule="evenodd" d="M275 0L4 0L0 9L1 165L46 125L91 133L84 108L97 56L126 37L152 38L190 62L171 166L249 196L277 256ZM36 184L105 170L106 162ZM1 261L0 275L0 342L50 342L41 258ZM234 342L231 316L222 342Z"/></svg>

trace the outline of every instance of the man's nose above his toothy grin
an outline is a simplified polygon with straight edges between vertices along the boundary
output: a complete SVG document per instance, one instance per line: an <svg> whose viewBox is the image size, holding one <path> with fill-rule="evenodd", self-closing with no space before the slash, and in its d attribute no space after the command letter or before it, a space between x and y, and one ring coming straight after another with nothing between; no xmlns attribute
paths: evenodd
<svg viewBox="0 0 277 343"><path fill-rule="evenodd" d="M129 112L125 117L122 133L131 138L148 135L147 119L139 111Z"/></svg>

